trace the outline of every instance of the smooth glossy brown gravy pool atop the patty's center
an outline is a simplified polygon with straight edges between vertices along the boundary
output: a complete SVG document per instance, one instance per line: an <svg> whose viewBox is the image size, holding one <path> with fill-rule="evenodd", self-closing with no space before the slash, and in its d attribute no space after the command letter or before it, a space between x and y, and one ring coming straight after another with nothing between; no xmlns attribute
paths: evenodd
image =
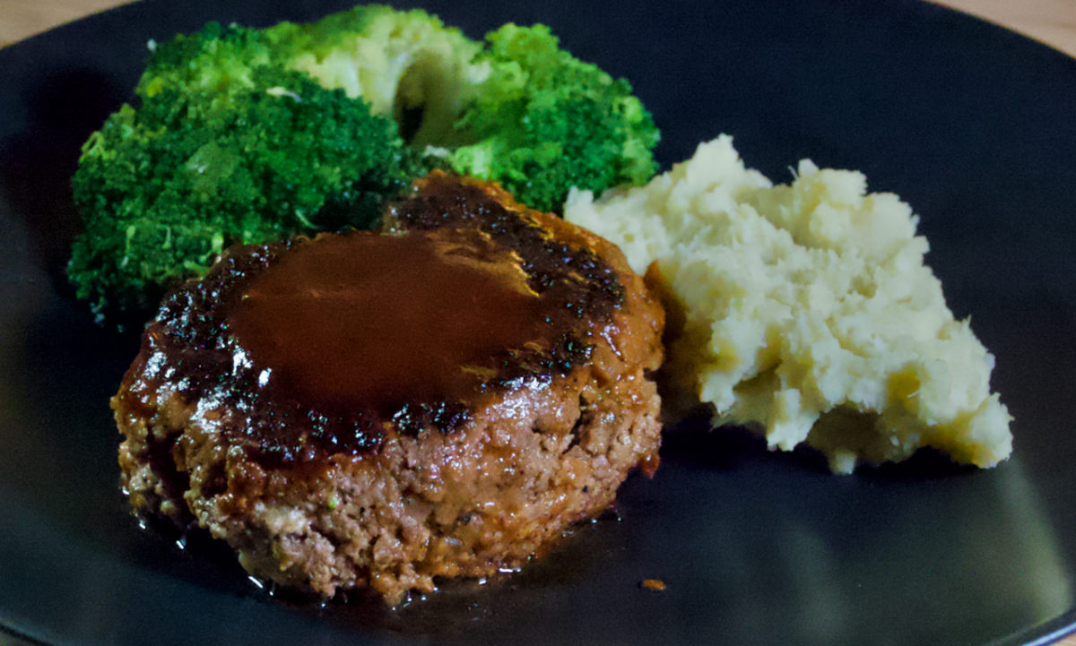
<svg viewBox="0 0 1076 646"><path fill-rule="evenodd" d="M318 238L251 282L229 329L264 391L320 411L466 401L563 332L512 256L475 229Z"/></svg>

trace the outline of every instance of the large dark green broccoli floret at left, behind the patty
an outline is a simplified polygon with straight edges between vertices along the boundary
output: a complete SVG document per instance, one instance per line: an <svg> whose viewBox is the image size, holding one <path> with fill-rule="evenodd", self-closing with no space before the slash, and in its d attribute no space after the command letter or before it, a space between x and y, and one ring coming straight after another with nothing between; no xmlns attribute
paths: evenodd
<svg viewBox="0 0 1076 646"><path fill-rule="evenodd" d="M249 83L226 96L162 87L86 142L68 273L98 315L147 311L231 244L369 227L421 172L365 102L271 66Z"/></svg>

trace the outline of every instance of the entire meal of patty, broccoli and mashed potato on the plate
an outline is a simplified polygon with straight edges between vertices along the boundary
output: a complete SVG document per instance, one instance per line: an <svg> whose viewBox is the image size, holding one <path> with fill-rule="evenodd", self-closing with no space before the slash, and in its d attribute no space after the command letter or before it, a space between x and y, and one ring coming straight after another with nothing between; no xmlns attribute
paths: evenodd
<svg viewBox="0 0 1076 646"><path fill-rule="evenodd" d="M907 205L809 161L773 186L728 138L655 176L627 82L543 26L370 5L150 48L68 273L152 318L112 400L132 507L256 577L393 604L519 569L690 405L835 472L1011 450Z"/></svg>

